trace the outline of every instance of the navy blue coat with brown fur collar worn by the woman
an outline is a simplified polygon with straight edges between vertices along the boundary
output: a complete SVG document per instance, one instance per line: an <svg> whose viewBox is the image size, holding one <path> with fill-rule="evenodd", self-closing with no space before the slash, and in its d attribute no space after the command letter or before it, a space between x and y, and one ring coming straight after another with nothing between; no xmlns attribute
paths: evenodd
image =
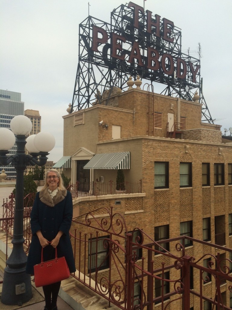
<svg viewBox="0 0 232 310"><path fill-rule="evenodd" d="M34 265L41 262L41 244L36 232L41 230L43 237L52 241L59 230L60 237L57 254L65 256L70 272L75 272L75 262L72 245L69 237L73 213L72 197L68 191L58 190L57 195L51 198L47 189L38 192L31 211L32 240L28 253L26 273L34 274ZM48 245L43 250L44 261L55 258L55 249Z"/></svg>

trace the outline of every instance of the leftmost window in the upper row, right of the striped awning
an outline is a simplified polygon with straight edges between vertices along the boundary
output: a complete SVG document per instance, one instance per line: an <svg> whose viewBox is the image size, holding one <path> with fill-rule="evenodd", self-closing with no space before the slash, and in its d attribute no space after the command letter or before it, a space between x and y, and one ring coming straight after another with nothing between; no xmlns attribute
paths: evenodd
<svg viewBox="0 0 232 310"><path fill-rule="evenodd" d="M155 162L155 188L169 187L169 163Z"/></svg>

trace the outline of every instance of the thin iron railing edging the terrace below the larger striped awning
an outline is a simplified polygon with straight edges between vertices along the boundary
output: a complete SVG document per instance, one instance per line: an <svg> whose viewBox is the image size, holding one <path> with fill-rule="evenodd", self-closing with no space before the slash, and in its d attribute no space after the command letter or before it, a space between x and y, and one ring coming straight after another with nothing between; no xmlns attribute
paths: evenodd
<svg viewBox="0 0 232 310"><path fill-rule="evenodd" d="M118 188L123 188L123 190L118 191ZM92 182L91 184L81 183L79 181L76 184L71 184L67 188L72 194L72 197L79 196L99 196L99 195L112 195L112 194L131 194L131 193L141 193L142 192L142 180L138 182L128 182L125 181L123 184L116 184L112 180L107 183Z"/></svg>

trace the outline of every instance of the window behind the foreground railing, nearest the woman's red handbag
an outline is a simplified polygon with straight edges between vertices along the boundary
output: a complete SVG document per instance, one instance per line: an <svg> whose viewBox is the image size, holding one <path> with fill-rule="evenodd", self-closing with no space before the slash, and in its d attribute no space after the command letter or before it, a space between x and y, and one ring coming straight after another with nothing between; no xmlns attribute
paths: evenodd
<svg viewBox="0 0 232 310"><path fill-rule="evenodd" d="M109 268L109 247L104 247L104 240L110 236L88 239L88 272ZM106 242L106 241L105 241ZM97 266L96 266L97 255Z"/></svg>

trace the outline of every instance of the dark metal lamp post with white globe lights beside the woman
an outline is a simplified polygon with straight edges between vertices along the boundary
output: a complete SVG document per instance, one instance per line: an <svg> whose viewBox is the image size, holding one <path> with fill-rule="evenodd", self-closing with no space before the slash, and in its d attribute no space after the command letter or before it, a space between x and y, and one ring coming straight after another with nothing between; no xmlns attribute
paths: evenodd
<svg viewBox="0 0 232 310"><path fill-rule="evenodd" d="M11 164L16 170L15 219L13 230L13 249L6 260L4 269L1 302L6 305L22 305L32 298L31 276L25 273L27 255L24 251L24 171L28 165L43 166L47 162L48 152L54 148L55 139L50 133L40 132L29 136L32 122L24 115L11 120L11 130L0 128L0 164ZM15 134L15 135L14 135ZM15 144L16 154L6 156ZM25 145L30 154L25 154Z"/></svg>

